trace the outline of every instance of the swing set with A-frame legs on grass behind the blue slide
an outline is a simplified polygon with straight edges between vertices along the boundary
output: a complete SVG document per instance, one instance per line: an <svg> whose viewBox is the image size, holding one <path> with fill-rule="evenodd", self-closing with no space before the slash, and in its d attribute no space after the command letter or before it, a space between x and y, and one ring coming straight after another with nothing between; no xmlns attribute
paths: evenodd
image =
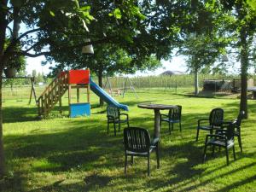
<svg viewBox="0 0 256 192"><path fill-rule="evenodd" d="M127 90L131 90L135 94L135 96L138 98L137 92L136 92L130 78L128 78L128 77L122 78L123 79L122 88L119 88L119 87L113 88L111 79L113 79L113 78L108 77L106 83L103 85L103 88L105 90L108 90L108 93L111 96L123 95L123 97L125 97L125 92ZM118 84L117 84L117 86L118 86Z"/></svg>

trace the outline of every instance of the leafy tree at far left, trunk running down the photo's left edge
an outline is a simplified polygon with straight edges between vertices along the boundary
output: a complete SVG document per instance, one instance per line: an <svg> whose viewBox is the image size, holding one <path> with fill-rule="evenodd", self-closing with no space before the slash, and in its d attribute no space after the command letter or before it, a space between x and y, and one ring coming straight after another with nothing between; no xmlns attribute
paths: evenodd
<svg viewBox="0 0 256 192"><path fill-rule="evenodd" d="M36 57L49 55L51 52L63 53L67 49L81 49L82 46L90 44L86 39L92 39L93 35L89 32L88 25L91 20L96 20L90 14L90 3L78 0L0 1L0 177L3 177L4 173L3 69L9 67L9 61L15 55ZM121 39L131 39L134 34L132 26L136 26L143 17L137 5L131 0L124 3L103 2L101 5L102 11L108 7L111 9L106 9L106 13L108 17L112 17L111 22L117 23L119 19L123 27L109 29L112 35L107 37L102 32L102 36L93 38L91 44L102 44L113 39L117 42ZM21 22L25 26L22 32L20 31ZM10 43L4 47L6 39L10 39Z"/></svg>

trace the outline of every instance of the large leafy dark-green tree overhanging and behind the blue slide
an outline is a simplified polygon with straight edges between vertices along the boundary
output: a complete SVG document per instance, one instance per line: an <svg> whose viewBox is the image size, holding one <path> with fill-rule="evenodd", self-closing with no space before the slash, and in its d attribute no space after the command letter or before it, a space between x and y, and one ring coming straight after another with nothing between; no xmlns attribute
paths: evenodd
<svg viewBox="0 0 256 192"><path fill-rule="evenodd" d="M63 51L54 49L47 55L49 62L61 63L54 72L65 67L90 67L90 70L97 74L101 85L104 73L134 73L135 70L158 67L160 62L156 59L169 58L174 48L172 42L178 32L174 26L176 17L172 13L176 9L172 6L177 7L178 3L169 6L166 2L138 1L134 11L139 8L139 20L131 22L131 15L124 15L125 9L113 9L113 6L119 7L123 3L91 2L91 15L94 15L95 20L90 22L90 40L94 42L95 39L105 37L105 44L94 45L95 55L83 55L81 49L75 47L66 49L65 55ZM167 7L172 8L172 14L163 11L168 10ZM79 42L82 36L78 35L76 38ZM65 42L67 47L73 44L68 38L56 38L55 41L59 41L57 44Z"/></svg>

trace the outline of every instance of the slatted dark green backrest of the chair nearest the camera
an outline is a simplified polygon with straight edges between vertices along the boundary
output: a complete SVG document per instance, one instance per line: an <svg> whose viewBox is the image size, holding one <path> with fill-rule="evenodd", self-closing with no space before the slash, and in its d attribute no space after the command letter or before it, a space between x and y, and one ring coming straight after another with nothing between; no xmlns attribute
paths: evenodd
<svg viewBox="0 0 256 192"><path fill-rule="evenodd" d="M124 129L125 150L143 153L148 152L150 147L150 136L148 130L139 127Z"/></svg>

